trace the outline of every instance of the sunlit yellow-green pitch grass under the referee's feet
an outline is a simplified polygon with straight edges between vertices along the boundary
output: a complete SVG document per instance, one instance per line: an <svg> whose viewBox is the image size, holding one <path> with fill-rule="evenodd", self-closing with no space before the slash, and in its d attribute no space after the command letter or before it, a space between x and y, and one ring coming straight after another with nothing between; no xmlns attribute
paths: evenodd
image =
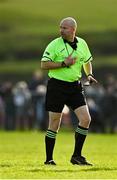
<svg viewBox="0 0 117 180"><path fill-rule="evenodd" d="M112 179L117 178L117 135L89 134L83 154L94 164L70 164L74 135L60 130L54 151L57 166L44 166L45 133L0 132L0 178Z"/></svg>

